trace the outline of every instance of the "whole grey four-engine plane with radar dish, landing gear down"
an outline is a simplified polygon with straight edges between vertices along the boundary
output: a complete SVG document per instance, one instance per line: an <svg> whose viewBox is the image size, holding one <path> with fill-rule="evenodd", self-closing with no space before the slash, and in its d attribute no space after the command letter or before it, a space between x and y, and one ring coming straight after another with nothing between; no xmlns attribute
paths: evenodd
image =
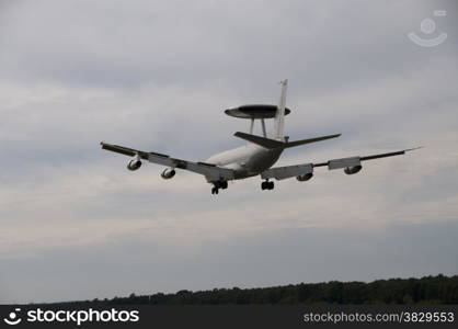
<svg viewBox="0 0 458 329"><path fill-rule="evenodd" d="M278 106L270 104L249 104L226 110L225 113L227 115L251 121L250 134L240 132L234 134L234 136L248 140L248 144L211 156L203 162L176 159L158 152L141 151L118 145L106 144L104 141L101 143L102 148L133 157L127 163L127 169L131 171L139 169L141 167L141 160L146 160L167 167L161 173L163 179L173 178L176 169L188 170L202 174L208 183L213 184L211 194L218 194L219 189L226 190L228 188L228 181L242 180L254 175L261 175L261 179L263 180L261 183L262 190L273 190L273 179L279 181L295 177L299 182L305 182L313 177L313 169L317 167L328 167L329 170L343 169L346 174L354 174L362 170L362 161L400 156L414 149L404 149L367 157L333 159L327 162L272 168L286 148L341 136L341 134L335 134L289 141L289 138L284 135L285 115L290 113L290 110L285 106L288 80L280 81L280 84L282 93ZM265 128L266 118L274 118L274 129L270 134L266 133ZM261 121L262 136L253 135L255 120Z"/></svg>

